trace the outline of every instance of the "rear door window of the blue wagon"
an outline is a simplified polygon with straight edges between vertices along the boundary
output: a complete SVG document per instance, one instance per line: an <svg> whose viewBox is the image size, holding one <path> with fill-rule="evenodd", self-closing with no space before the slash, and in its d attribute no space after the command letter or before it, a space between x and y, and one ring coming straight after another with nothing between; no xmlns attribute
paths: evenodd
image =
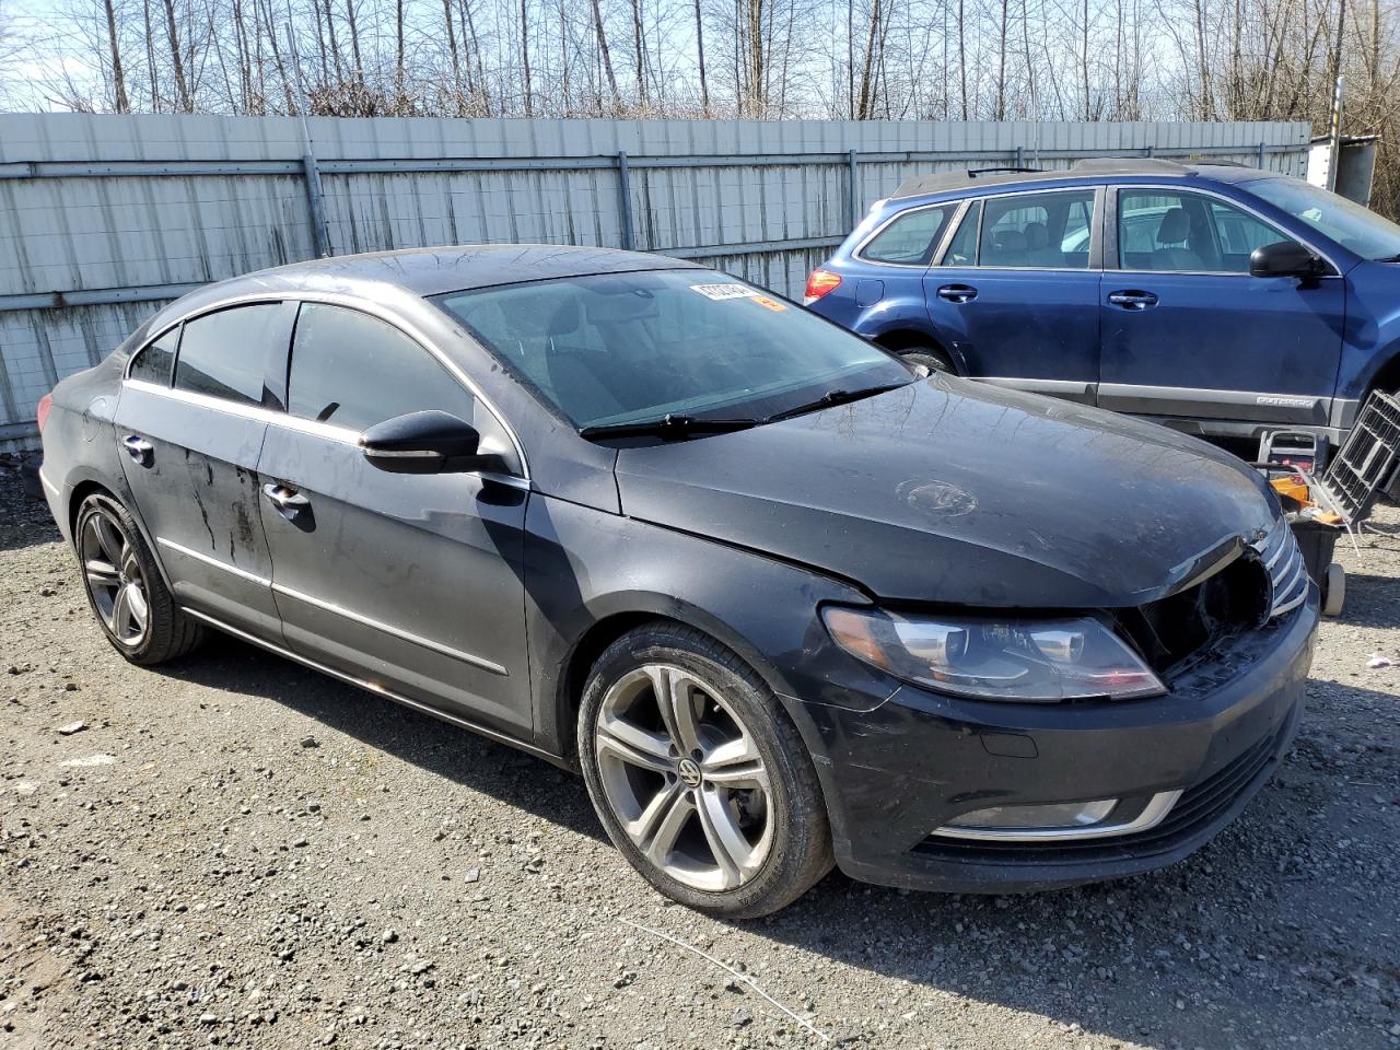
<svg viewBox="0 0 1400 1050"><path fill-rule="evenodd" d="M986 203L979 266L1077 269L1089 266L1093 190L1018 193Z"/></svg>

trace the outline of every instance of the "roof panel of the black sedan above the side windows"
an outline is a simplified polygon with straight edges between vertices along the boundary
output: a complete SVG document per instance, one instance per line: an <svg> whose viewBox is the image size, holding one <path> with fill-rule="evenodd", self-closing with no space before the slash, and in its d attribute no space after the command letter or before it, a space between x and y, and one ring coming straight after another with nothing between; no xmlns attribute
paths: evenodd
<svg viewBox="0 0 1400 1050"><path fill-rule="evenodd" d="M385 281L416 295L486 288L496 284L582 277L594 273L703 269L692 262L616 248L552 244L442 245L395 252L337 255L276 266L217 284L221 294L319 291L340 281Z"/></svg>

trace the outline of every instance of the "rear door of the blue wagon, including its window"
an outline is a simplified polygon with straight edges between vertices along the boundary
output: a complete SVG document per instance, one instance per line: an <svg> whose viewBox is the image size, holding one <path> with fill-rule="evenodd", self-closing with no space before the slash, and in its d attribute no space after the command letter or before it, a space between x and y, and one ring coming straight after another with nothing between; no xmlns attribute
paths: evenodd
<svg viewBox="0 0 1400 1050"><path fill-rule="evenodd" d="M967 375L1093 402L1102 189L967 202L924 277L928 315Z"/></svg>

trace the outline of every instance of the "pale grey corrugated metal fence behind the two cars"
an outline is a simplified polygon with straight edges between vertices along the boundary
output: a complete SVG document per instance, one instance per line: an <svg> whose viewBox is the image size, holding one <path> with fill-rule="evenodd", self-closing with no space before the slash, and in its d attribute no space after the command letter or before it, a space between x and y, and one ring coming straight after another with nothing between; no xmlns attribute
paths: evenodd
<svg viewBox="0 0 1400 1050"><path fill-rule="evenodd" d="M0 115L0 448L160 304L265 266L473 241L704 260L785 294L918 172L1215 157L1302 175L1305 123Z"/></svg>

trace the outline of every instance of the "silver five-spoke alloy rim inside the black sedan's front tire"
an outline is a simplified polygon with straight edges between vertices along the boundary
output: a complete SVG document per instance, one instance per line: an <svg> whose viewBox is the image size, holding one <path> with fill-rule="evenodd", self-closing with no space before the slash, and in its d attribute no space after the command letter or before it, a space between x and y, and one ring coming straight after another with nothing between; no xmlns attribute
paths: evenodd
<svg viewBox="0 0 1400 1050"><path fill-rule="evenodd" d="M710 892L762 869L774 829L769 771L720 690L675 665L637 668L603 696L594 748L609 806L657 868Z"/></svg>

